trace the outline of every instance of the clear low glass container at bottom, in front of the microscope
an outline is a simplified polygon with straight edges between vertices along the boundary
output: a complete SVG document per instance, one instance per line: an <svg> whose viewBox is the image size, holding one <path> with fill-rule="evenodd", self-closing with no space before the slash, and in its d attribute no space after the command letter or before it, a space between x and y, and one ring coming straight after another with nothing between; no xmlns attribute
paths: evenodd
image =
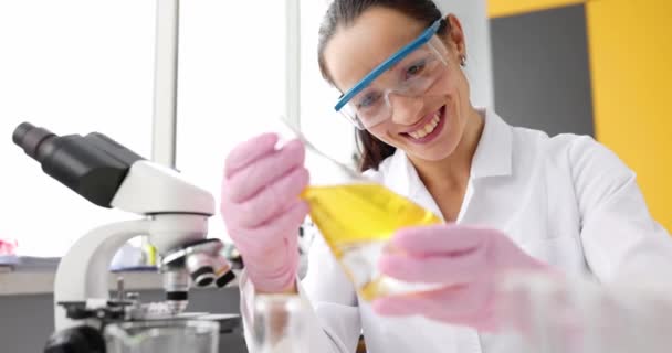
<svg viewBox="0 0 672 353"><path fill-rule="evenodd" d="M157 320L105 327L107 353L218 353L219 323L207 320Z"/></svg>

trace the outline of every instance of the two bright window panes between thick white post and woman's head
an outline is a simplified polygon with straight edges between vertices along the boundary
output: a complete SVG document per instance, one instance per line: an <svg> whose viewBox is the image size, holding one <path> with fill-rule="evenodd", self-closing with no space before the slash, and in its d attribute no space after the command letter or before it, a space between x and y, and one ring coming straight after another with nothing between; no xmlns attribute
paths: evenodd
<svg viewBox="0 0 672 353"><path fill-rule="evenodd" d="M287 0L296 1L296 0ZM217 3L217 4L213 4ZM328 1L301 1L301 129L351 163L354 128L334 113L317 67L317 30ZM218 9L219 8L219 9ZM237 143L274 129L285 114L285 1L185 2L180 26L177 167L219 203L224 159ZM210 236L228 238L220 215Z"/></svg>

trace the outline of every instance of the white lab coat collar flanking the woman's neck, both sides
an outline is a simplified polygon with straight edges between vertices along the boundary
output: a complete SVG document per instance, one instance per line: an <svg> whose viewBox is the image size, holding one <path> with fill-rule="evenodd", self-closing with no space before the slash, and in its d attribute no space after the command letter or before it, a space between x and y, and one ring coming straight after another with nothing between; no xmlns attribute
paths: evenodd
<svg viewBox="0 0 672 353"><path fill-rule="evenodd" d="M484 116L485 126L479 140L471 165L470 182L487 176L505 176L512 173L512 127L491 109L479 109ZM422 182L411 161L400 149L391 157L387 186L392 191L412 196Z"/></svg>

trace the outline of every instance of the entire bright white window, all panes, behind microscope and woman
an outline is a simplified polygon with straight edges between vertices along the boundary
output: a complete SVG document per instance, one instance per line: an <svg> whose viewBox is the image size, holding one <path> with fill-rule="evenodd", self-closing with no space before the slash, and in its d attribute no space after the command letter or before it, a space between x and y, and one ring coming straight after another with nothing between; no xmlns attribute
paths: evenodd
<svg viewBox="0 0 672 353"><path fill-rule="evenodd" d="M298 1L298 0L286 0ZM317 68L328 1L301 1L301 126L353 162L354 130ZM219 202L225 156L285 111L285 1L182 1L176 167ZM22 121L59 135L103 132L149 158L155 1L0 3L0 237L21 255L62 256L85 233L136 215L97 207L10 142ZM221 217L210 236L227 237Z"/></svg>

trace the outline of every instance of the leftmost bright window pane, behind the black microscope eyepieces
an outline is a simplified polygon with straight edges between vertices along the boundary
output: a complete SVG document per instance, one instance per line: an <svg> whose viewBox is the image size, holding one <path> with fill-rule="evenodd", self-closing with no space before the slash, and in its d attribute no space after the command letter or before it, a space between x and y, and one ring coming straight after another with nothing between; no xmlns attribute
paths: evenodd
<svg viewBox="0 0 672 353"><path fill-rule="evenodd" d="M61 256L93 227L133 215L97 207L11 142L22 121L103 132L149 157L154 1L0 2L0 237Z"/></svg>

